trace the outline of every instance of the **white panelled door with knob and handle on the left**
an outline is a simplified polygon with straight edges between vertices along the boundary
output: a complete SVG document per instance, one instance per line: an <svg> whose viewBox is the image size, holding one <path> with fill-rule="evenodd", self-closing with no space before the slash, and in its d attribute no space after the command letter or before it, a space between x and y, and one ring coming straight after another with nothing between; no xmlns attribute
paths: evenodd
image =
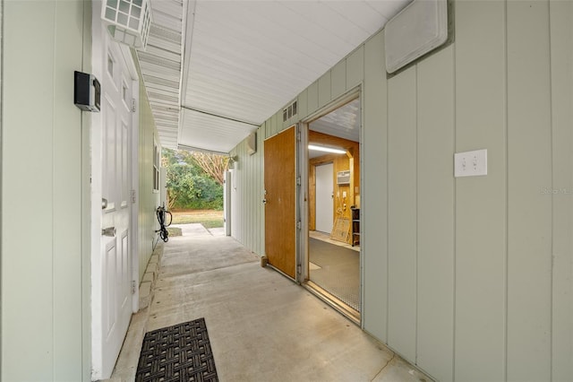
<svg viewBox="0 0 573 382"><path fill-rule="evenodd" d="M107 35L107 34L106 34ZM131 171L133 81L117 43L107 40L102 83L101 360L111 375L132 315Z"/></svg>

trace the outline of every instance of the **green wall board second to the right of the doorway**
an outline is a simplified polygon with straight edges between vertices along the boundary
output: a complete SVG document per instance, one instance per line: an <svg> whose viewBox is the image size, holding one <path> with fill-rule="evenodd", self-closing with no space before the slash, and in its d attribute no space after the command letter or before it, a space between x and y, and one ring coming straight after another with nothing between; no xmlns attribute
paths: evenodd
<svg viewBox="0 0 573 382"><path fill-rule="evenodd" d="M388 84L388 343L408 360L416 355L416 69Z"/></svg>

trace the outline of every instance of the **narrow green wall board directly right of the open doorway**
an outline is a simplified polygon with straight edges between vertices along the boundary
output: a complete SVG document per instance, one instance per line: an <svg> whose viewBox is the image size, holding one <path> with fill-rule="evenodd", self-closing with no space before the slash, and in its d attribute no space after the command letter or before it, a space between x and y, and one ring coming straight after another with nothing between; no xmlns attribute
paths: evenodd
<svg viewBox="0 0 573 382"><path fill-rule="evenodd" d="M360 157L362 163L362 193L360 198L363 224L360 243L363 254L362 321L368 332L388 342L388 91L386 90L386 71L384 35L379 33L366 41L364 46L364 83L363 83L363 144ZM375 175L365 176L375 169ZM368 172L366 172L368 171ZM363 207L368 207L367 209Z"/></svg>

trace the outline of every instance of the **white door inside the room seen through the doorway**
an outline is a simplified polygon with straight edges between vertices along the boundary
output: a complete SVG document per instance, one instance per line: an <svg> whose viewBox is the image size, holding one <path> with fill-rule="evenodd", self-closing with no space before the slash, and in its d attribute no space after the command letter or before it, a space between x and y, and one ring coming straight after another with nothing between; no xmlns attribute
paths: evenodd
<svg viewBox="0 0 573 382"><path fill-rule="evenodd" d="M316 230L332 232L334 220L334 166L332 163L316 166Z"/></svg>

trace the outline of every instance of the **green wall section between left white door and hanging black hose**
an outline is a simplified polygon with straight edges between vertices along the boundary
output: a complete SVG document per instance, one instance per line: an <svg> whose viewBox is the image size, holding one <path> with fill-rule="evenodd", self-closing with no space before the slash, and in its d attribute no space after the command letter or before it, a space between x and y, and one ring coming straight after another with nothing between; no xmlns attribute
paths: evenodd
<svg viewBox="0 0 573 382"><path fill-rule="evenodd" d="M140 83L143 83L141 77L141 68L137 57L134 55L133 61L137 66ZM155 120L151 112L150 100L147 97L145 86L140 86L139 94L139 188L138 188L138 207L139 207L139 232L138 232L138 251L139 251L139 277L140 282L145 274L145 269L150 262L153 253L153 244L158 238L155 230L158 230L158 220L155 214L160 205L160 194L154 191L153 187L153 155L154 144L160 146ZM159 150L161 148L159 147ZM160 187L160 186L159 186Z"/></svg>

